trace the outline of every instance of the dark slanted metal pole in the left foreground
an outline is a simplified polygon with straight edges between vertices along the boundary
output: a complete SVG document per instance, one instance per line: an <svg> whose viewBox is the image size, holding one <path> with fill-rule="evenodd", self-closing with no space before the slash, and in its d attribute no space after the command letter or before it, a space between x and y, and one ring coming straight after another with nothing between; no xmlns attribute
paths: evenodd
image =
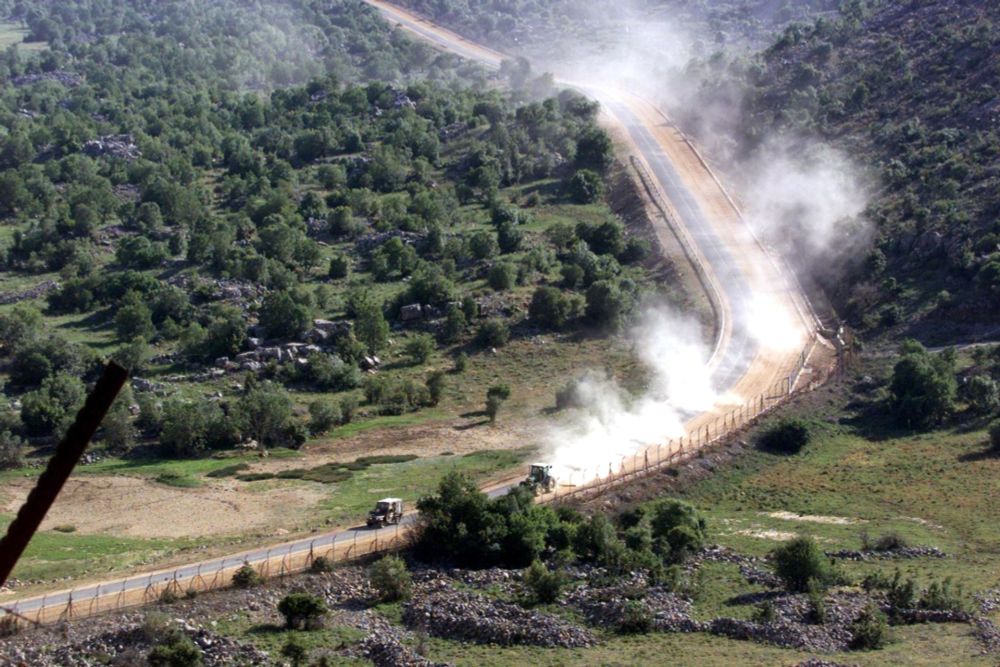
<svg viewBox="0 0 1000 667"><path fill-rule="evenodd" d="M17 517L7 527L6 537L0 540L0 586L7 581L127 378L128 371L113 361L108 363L94 391L66 432L66 437L56 448L55 456L28 494Z"/></svg>

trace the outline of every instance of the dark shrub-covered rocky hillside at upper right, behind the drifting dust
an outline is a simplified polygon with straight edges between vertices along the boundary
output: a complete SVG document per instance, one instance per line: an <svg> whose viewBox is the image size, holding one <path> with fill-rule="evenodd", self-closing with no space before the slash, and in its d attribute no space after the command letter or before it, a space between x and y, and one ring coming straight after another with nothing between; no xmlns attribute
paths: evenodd
<svg viewBox="0 0 1000 667"><path fill-rule="evenodd" d="M788 28L735 74L702 73L687 122L737 105L742 157L765 137L818 134L872 166L875 248L835 290L857 325L946 339L995 324L998 20L973 0L856 5Z"/></svg>

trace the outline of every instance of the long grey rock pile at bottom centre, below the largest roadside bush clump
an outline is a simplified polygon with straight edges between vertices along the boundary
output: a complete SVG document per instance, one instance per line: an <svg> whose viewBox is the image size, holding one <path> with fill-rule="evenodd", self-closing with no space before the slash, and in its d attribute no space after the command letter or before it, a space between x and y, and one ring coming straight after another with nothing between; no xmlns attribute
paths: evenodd
<svg viewBox="0 0 1000 667"><path fill-rule="evenodd" d="M437 590L405 606L403 621L409 627L437 637L499 646L526 644L574 648L596 643L589 631L555 616L475 593L456 591L445 581L437 583L432 587Z"/></svg>

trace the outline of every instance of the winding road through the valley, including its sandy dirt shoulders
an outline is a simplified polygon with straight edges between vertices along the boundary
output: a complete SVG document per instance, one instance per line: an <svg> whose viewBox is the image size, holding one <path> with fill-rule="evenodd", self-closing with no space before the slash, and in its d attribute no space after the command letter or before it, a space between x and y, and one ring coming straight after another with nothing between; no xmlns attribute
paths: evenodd
<svg viewBox="0 0 1000 667"><path fill-rule="evenodd" d="M382 0L365 0L380 10L390 22L460 56L498 68L504 56L475 44L455 33ZM571 84L572 85L572 84ZM788 380L789 391L797 371L801 371L802 350L813 339L815 322L809 316L808 302L797 283L770 257L744 223L732 200L712 174L708 165L666 117L648 101L619 91L577 85L597 98L605 111L624 130L630 148L645 164L656 187L671 209L672 222L680 226L692 241L696 261L701 263L709 280L717 288L717 312L722 322L718 329L716 351L706 372L720 395L711 409L690 415L687 432L698 432L730 412L735 405L751 397L763 396L777 382ZM664 224L664 223L660 223ZM763 307L761 303L765 304ZM758 320L766 327L786 329L782 344L769 344L760 334ZM766 328L765 327L765 328ZM650 443L653 445L654 443ZM647 450L648 451L648 450ZM488 489L491 496L504 493L510 483ZM401 527L372 531L364 528L338 529L285 544L252 549L223 558L179 568L160 570L87 585L72 591L53 592L23 600L3 603L3 607L28 617L41 610L66 608L70 603L101 600L117 596L119 600L141 601L143 592L157 590L174 581L197 581L213 573L231 571L243 563L302 559L306 554L323 551L336 557L340 553L358 554L371 550L374 543L399 537L415 516L404 518ZM100 605L98 605L100 607ZM55 619L48 619L55 620Z"/></svg>

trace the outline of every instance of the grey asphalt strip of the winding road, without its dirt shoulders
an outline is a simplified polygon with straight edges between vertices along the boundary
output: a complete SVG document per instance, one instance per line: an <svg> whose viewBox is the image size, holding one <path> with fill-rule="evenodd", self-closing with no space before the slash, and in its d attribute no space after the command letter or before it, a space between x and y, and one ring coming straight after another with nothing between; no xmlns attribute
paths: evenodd
<svg viewBox="0 0 1000 667"><path fill-rule="evenodd" d="M385 11L384 4L372 4ZM390 20L399 22L399 17L393 14L390 16ZM408 29L425 39L443 46L458 55L478 60L491 67L498 65L498 60L496 60L498 54L495 54L495 52L481 49L474 44L460 39L456 41L445 40L442 38L440 32L423 21L407 20L403 23ZM694 196L684 186L680 175L651 133L650 128L640 121L627 105L614 99L608 99L599 90L588 90L587 92L604 104L627 130L629 136L635 142L642 156L650 166L653 176L658 181L663 193L681 217L682 224L687 228L698 249L710 264L720 290L723 293L722 297L728 302L728 309L732 318L731 336L727 343L720 349L722 355L719 360L720 363L715 366L712 375L712 383L715 390L723 393L725 390L733 387L748 372L758 351L757 342L750 335L749 303L751 302L752 294L746 277L740 271L734 258L728 251L725 242L718 237L715 230L706 220L705 213ZM509 488L510 486L502 486L492 489L489 491L489 495L491 497L503 495ZM402 521L402 525L412 524L415 518L415 514L406 515ZM393 527L387 527L379 529L378 532L380 535L384 534L386 539L388 539L392 537L394 530L395 528ZM351 542L356 542L358 539L367 540L375 532L365 527L357 527L337 533L311 536L276 547L249 550L195 565L182 566L166 572L136 575L116 582L79 588L72 593L63 591L23 601L11 601L3 603L3 606L21 613L33 612L43 606L65 605L71 599L74 603L79 603L105 595L117 595L123 592L145 590L149 586L165 584L174 580L187 581L196 579L199 576L211 577L217 571L236 567L245 562L253 563L283 555L302 554L308 552L311 548L327 548L332 545L346 546Z"/></svg>

